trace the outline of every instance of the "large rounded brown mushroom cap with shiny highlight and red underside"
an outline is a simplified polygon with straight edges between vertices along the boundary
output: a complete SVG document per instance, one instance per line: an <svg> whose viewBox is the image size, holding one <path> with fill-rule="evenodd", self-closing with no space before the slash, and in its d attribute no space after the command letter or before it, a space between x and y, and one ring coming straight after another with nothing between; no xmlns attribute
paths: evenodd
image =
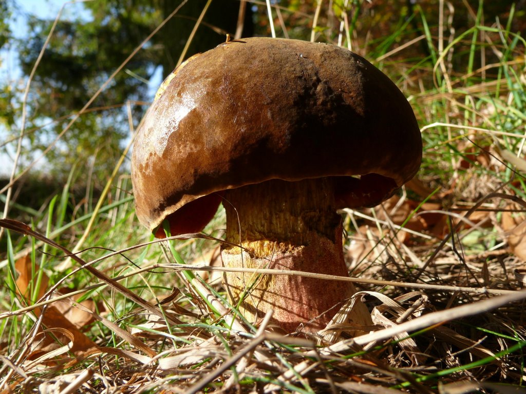
<svg viewBox="0 0 526 394"><path fill-rule="evenodd" d="M169 78L131 161L137 216L153 232L169 215L173 235L200 231L221 191L270 179L337 177L340 205L373 206L420 167L411 106L347 49L246 38Z"/></svg>

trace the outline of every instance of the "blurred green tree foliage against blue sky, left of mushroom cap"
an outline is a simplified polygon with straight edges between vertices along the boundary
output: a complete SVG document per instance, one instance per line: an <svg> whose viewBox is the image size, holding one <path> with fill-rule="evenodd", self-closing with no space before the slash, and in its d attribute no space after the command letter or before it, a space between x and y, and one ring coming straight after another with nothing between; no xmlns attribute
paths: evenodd
<svg viewBox="0 0 526 394"><path fill-rule="evenodd" d="M81 3L75 18L61 18L36 68L28 99L28 129L34 150L42 150L60 133L134 49L181 3L181 0L96 0ZM46 156L50 168L67 171L92 163L107 173L129 136L127 100L151 99L147 81L156 70L168 75L176 66L207 0L189 0L129 61ZM234 34L239 1L214 0L186 57L213 48ZM53 20L31 17L29 36L19 43L21 66L31 74ZM245 24L250 29L250 19ZM248 32L250 34L250 32ZM145 106L132 105L135 122ZM50 123L51 122L51 123ZM50 125L46 125L50 123ZM32 154L32 152L29 152ZM88 159L88 160L87 160ZM109 169L108 169L109 167ZM66 172L67 173L67 172Z"/></svg>

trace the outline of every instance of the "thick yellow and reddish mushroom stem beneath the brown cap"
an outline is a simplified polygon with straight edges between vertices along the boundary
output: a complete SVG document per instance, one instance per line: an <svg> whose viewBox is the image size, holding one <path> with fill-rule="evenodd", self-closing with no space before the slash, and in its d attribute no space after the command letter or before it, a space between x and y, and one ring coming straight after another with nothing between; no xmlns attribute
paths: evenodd
<svg viewBox="0 0 526 394"><path fill-rule="evenodd" d="M348 276L343 260L341 218L336 213L332 180L270 180L225 193L227 267L272 268ZM289 275L226 273L231 302L255 322L274 310L274 321L288 332L326 327L342 302L356 293L350 282ZM241 302L240 299L242 298ZM351 319L370 324L358 303Z"/></svg>

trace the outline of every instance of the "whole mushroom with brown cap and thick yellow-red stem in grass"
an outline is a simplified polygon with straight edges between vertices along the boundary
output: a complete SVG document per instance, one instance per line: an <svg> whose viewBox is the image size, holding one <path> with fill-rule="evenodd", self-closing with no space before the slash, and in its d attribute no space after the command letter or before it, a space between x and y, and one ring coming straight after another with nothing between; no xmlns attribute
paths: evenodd
<svg viewBox="0 0 526 394"><path fill-rule="evenodd" d="M347 49L233 40L179 66L138 131L131 173L139 221L156 236L203 230L226 210L227 267L348 276L340 208L375 206L420 167L408 101ZM239 245L239 246L236 246ZM232 305L283 329L324 328L350 282L228 272ZM361 302L350 314L368 324Z"/></svg>

